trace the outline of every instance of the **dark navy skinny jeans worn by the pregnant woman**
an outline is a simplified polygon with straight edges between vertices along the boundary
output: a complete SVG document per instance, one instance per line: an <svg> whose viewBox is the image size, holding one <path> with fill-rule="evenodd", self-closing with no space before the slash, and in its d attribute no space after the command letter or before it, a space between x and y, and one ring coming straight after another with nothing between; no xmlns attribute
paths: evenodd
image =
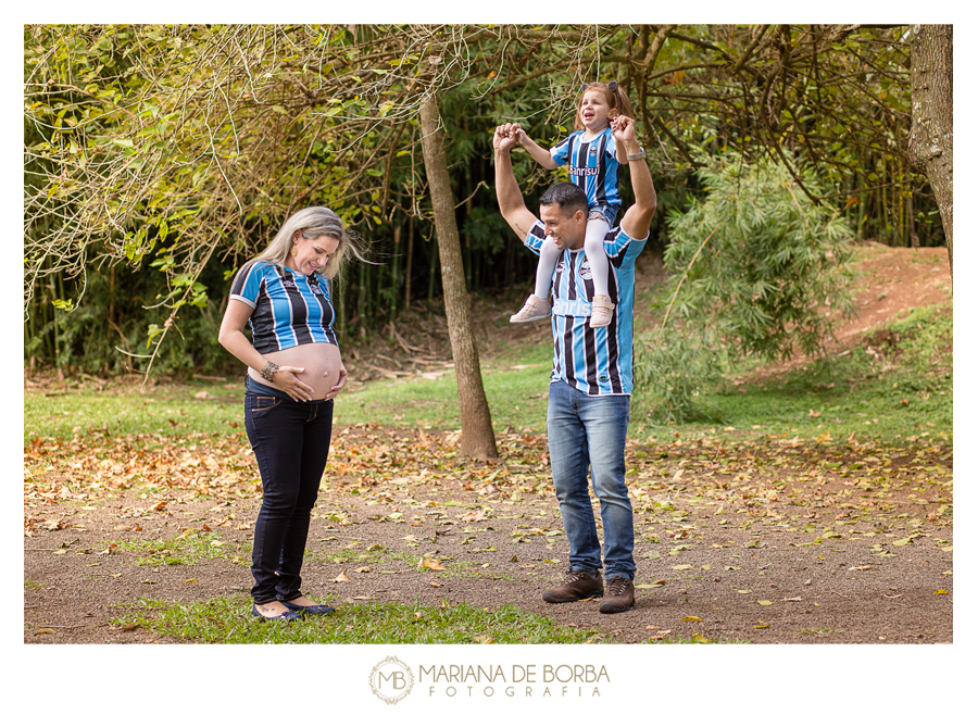
<svg viewBox="0 0 978 715"><path fill-rule="evenodd" d="M264 490L251 555L256 604L302 595L299 572L310 513L333 432L333 400L296 402L283 396L244 394L244 426Z"/></svg>

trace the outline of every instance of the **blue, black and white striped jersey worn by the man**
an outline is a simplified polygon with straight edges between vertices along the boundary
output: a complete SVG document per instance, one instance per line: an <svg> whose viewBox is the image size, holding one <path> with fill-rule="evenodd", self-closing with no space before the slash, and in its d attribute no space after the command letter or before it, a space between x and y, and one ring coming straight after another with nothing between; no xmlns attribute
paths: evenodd
<svg viewBox="0 0 978 715"><path fill-rule="evenodd" d="M631 238L620 225L604 238L604 252L613 268L609 271L607 287L616 305L611 324L603 328L588 325L594 285L584 249L561 253L552 281L551 382L563 380L590 396L631 394L635 262L648 238ZM537 221L527 234L526 246L539 254L544 240L551 239L544 234L543 223Z"/></svg>

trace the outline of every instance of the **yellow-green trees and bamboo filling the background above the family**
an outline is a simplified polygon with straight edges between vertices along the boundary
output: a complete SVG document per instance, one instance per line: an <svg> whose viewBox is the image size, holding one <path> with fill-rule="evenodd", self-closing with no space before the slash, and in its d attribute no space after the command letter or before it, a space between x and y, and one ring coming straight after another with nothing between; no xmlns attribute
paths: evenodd
<svg viewBox="0 0 978 715"><path fill-rule="evenodd" d="M116 348L152 354L163 373L233 364L209 334L228 289L215 276L311 203L336 209L375 248L375 265L336 281L343 337L369 339L406 299L434 298L416 121L429 92L474 291L510 289L535 266L499 216L492 128L521 122L552 146L594 78L622 81L635 106L660 189L653 243L665 246L664 217L695 180L697 148L804 159L825 189L804 178L799 201L827 196L861 238L941 241L933 198L906 159L904 28L666 29L649 73L649 25L25 26L25 356L102 374L148 367ZM522 151L514 170L531 206L561 176ZM91 292L113 268L115 290L137 298L125 310Z"/></svg>

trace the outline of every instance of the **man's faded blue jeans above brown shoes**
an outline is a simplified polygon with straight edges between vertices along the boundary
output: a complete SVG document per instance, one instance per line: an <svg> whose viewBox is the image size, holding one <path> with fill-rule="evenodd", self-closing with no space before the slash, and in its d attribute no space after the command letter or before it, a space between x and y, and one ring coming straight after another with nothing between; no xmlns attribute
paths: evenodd
<svg viewBox="0 0 978 715"><path fill-rule="evenodd" d="M566 382L550 384L547 435L550 465L564 530L570 542L572 570L597 573L601 543L588 494L591 484L601 503L604 576L635 578L635 527L625 486L627 396L589 397Z"/></svg>

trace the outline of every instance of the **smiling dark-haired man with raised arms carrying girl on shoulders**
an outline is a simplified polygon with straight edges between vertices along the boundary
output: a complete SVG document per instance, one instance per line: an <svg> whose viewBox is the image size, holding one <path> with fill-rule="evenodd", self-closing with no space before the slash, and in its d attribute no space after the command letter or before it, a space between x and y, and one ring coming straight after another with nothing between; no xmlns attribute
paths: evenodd
<svg viewBox="0 0 978 715"><path fill-rule="evenodd" d="M593 286L584 252L587 196L573 184L551 187L540 199L540 219L526 208L510 158L518 125L497 127L496 195L506 223L531 251L544 240L564 251L553 278L553 372L547 434L550 463L564 530L570 542L570 566L564 582L543 592L550 603L604 597L599 611L619 613L635 605L635 527L625 486L625 435L632 385L632 310L635 261L649 238L655 213L655 188L644 150L635 136L635 120L612 123L625 147L636 203L604 239L610 263L609 288L618 309L607 327L591 328ZM601 504L604 527L605 584L602 553L591 500L588 469Z"/></svg>

